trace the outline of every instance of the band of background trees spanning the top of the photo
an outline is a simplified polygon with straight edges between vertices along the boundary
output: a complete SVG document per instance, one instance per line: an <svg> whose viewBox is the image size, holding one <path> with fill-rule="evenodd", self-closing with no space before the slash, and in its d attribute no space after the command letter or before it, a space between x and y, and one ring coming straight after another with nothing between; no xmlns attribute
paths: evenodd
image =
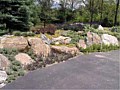
<svg viewBox="0 0 120 90"><path fill-rule="evenodd" d="M0 0L0 28L26 31L39 23L66 22L115 26L119 12L119 0Z"/></svg>

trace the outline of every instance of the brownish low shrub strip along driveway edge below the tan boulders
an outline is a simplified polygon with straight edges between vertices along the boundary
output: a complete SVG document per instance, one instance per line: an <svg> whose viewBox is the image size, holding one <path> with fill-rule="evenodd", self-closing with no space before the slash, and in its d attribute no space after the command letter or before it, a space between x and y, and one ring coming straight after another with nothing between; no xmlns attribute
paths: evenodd
<svg viewBox="0 0 120 90"><path fill-rule="evenodd" d="M48 64L53 64L55 62L62 62L62 61L65 61L65 60L68 60L68 58L71 58L73 57L73 55L71 54L65 54L65 53L61 53L61 54L58 54L58 53L52 53L49 57L47 58L41 58L41 57L38 57L37 60L31 64L31 65L28 65L26 67L27 70L36 70L38 68L42 68L42 67L45 67L46 65Z"/></svg>

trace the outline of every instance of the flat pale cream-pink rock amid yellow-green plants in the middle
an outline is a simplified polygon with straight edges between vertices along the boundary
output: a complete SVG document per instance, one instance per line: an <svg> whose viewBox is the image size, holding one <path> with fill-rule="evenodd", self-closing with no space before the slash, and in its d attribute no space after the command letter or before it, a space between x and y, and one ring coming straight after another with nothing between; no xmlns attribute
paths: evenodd
<svg viewBox="0 0 120 90"><path fill-rule="evenodd" d="M52 43L59 42L60 44L69 44L71 42L70 37L59 36L58 38L53 38Z"/></svg>

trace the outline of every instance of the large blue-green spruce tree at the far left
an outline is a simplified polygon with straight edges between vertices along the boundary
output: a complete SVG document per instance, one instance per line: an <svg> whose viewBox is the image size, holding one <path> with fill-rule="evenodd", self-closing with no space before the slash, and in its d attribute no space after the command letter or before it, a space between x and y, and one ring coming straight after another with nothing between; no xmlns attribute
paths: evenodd
<svg viewBox="0 0 120 90"><path fill-rule="evenodd" d="M0 23L9 32L29 29L29 7L27 0L0 0Z"/></svg>

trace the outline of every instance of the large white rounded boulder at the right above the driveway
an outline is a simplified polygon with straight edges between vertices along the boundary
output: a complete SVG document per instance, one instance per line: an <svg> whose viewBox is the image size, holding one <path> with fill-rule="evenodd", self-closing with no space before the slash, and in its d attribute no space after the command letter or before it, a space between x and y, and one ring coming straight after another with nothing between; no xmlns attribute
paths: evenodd
<svg viewBox="0 0 120 90"><path fill-rule="evenodd" d="M108 35L108 34L103 34L102 35L102 43L105 45L119 45L118 44L118 39L115 36Z"/></svg>

